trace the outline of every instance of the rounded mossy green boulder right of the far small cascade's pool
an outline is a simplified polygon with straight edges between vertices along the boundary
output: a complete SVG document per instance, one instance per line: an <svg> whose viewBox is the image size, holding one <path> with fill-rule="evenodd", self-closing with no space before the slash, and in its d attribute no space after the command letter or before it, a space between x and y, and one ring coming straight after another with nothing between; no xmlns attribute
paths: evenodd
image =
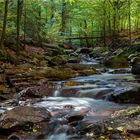
<svg viewBox="0 0 140 140"><path fill-rule="evenodd" d="M109 67L126 67L129 66L125 57L113 56L104 61L105 66Z"/></svg>

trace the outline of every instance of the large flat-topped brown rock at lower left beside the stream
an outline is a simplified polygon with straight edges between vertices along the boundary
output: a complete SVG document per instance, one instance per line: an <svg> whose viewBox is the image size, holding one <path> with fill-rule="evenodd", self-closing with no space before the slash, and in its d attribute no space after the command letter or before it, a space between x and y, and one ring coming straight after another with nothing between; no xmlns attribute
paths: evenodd
<svg viewBox="0 0 140 140"><path fill-rule="evenodd" d="M45 108L21 106L1 114L0 128L10 129L16 126L24 127L27 123L35 124L48 121L50 112Z"/></svg>

